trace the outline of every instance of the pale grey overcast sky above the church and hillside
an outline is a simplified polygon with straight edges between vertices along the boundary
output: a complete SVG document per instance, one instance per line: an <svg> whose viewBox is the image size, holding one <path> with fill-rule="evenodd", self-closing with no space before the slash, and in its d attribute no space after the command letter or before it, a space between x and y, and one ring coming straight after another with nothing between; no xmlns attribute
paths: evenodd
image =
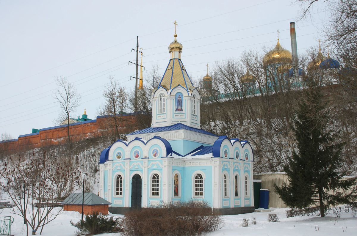
<svg viewBox="0 0 357 236"><path fill-rule="evenodd" d="M296 22L298 53L317 46L328 12L313 9L312 19L297 21L299 5L290 0L257 1L17 1L0 2L0 134L12 138L32 128L55 125L59 108L53 98L55 77L64 76L81 94L73 117L86 108L95 119L107 77L135 88L131 48L144 49L148 71L169 62L168 45L183 45L182 62L193 79L206 64L239 58L249 48L281 45L291 51L289 23ZM144 71L145 83L145 71Z"/></svg>

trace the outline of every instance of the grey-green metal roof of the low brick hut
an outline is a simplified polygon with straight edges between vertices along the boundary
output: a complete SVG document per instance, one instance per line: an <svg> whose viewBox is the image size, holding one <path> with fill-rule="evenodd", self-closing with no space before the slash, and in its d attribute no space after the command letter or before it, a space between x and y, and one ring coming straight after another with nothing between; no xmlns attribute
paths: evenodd
<svg viewBox="0 0 357 236"><path fill-rule="evenodd" d="M82 205L83 193L72 193L61 204ZM110 205L111 202L94 193L84 193L84 205Z"/></svg>

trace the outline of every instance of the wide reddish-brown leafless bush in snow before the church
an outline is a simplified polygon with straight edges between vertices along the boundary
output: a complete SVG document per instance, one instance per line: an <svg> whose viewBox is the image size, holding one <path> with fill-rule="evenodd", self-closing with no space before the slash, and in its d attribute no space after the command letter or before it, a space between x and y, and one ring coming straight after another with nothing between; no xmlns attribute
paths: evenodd
<svg viewBox="0 0 357 236"><path fill-rule="evenodd" d="M221 225L207 202L169 202L125 214L122 235L203 235Z"/></svg>

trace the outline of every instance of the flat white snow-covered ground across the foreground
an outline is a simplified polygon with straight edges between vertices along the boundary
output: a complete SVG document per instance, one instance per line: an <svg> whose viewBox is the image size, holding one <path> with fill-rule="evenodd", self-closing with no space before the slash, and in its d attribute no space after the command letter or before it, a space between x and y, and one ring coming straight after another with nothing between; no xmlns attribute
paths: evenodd
<svg viewBox="0 0 357 236"><path fill-rule="evenodd" d="M57 207L55 210L59 211L61 208ZM351 212L342 213L340 218L331 215L331 213L325 218L317 216L287 218L285 215L287 208L270 210L273 211L222 216L225 225L209 235L357 235L357 217L352 217ZM11 235L26 235L26 225L24 225L23 219L10 212L10 209L0 210L1 216L14 217ZM268 222L268 214L278 214L280 222ZM256 225L251 224L252 217L256 217ZM244 218L250 220L248 227L242 227ZM76 228L70 224L70 220L77 222L80 219L81 214L78 212L63 211L54 221L44 227L42 235L75 235ZM39 234L40 230L37 231L37 235Z"/></svg>

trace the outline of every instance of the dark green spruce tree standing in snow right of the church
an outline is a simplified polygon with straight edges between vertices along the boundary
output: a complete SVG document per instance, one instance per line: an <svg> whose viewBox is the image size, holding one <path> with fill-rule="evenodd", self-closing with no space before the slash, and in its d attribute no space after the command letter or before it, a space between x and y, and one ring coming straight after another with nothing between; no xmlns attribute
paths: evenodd
<svg viewBox="0 0 357 236"><path fill-rule="evenodd" d="M356 200L356 178L344 179L340 172L343 143L332 127L321 88L312 86L305 92L293 118L296 149L284 167L289 182L275 185L275 191L287 206L315 205L324 217L327 207Z"/></svg>

